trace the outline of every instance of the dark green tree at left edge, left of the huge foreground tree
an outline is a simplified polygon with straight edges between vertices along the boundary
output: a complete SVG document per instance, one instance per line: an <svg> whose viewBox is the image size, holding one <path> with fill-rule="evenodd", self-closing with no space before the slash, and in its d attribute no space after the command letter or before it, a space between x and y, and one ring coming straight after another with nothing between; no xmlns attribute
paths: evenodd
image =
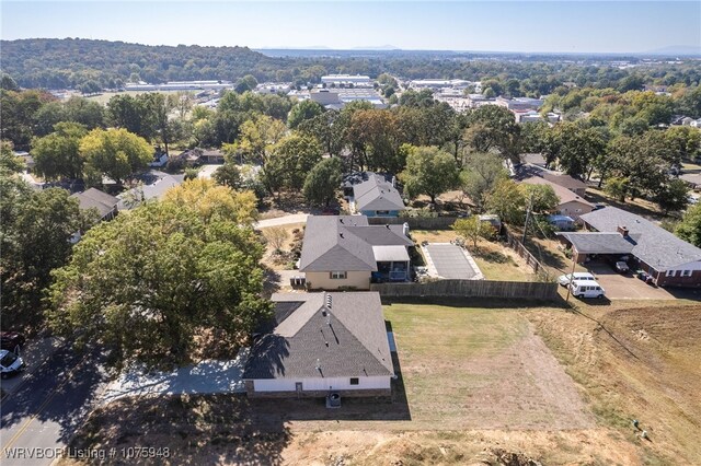
<svg viewBox="0 0 701 466"><path fill-rule="evenodd" d="M35 191L2 171L0 193L0 322L3 329L35 327L43 321L42 298L50 272L67 263L69 240L88 220L65 189Z"/></svg>

